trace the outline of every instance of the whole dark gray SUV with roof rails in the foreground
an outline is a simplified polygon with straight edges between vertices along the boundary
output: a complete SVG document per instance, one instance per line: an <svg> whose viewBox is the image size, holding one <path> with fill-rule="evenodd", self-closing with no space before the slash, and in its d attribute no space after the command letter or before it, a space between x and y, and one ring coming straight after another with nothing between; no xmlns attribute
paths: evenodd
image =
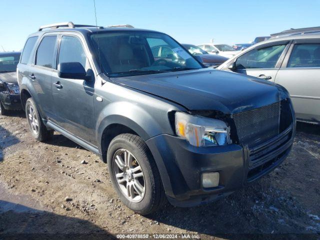
<svg viewBox="0 0 320 240"><path fill-rule="evenodd" d="M172 58L154 56L157 45ZM285 88L205 68L157 31L46 25L27 38L17 75L32 135L56 130L98 154L141 214L166 199L192 206L227 195L276 167L293 141Z"/></svg>

